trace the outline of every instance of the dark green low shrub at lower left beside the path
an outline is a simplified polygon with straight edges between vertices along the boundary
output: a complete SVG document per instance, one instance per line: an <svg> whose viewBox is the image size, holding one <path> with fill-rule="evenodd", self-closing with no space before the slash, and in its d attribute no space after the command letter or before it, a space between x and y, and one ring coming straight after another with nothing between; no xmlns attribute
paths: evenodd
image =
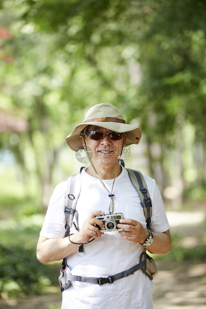
<svg viewBox="0 0 206 309"><path fill-rule="evenodd" d="M51 285L46 265L36 258L34 249L0 245L0 292L9 297L41 294Z"/></svg>

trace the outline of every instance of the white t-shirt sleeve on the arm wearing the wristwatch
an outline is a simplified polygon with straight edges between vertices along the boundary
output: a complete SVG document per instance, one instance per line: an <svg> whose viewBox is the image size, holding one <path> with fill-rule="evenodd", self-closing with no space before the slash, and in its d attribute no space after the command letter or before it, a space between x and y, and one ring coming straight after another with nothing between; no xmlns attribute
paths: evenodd
<svg viewBox="0 0 206 309"><path fill-rule="evenodd" d="M149 177L148 177L149 178ZM152 201L152 216L151 216L151 224L149 225L149 229L154 233L162 233L169 230L170 226L166 217L162 197L159 191L159 188L154 179L152 185L148 186L149 196ZM147 184L147 179L145 179Z"/></svg>

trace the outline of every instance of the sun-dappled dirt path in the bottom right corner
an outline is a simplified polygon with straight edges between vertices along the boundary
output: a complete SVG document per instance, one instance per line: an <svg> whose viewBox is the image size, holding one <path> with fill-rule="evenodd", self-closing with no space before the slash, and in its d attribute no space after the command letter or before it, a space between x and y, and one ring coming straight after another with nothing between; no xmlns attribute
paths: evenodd
<svg viewBox="0 0 206 309"><path fill-rule="evenodd" d="M154 309L206 309L206 264L157 261Z"/></svg>

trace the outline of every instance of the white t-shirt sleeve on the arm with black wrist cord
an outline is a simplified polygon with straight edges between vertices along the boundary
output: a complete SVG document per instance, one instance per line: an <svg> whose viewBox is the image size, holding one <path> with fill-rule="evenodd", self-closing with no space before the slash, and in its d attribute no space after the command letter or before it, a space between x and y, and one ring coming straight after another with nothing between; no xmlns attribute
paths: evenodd
<svg viewBox="0 0 206 309"><path fill-rule="evenodd" d="M46 238L64 238L65 236L65 194L67 181L56 186L50 198L40 236Z"/></svg>

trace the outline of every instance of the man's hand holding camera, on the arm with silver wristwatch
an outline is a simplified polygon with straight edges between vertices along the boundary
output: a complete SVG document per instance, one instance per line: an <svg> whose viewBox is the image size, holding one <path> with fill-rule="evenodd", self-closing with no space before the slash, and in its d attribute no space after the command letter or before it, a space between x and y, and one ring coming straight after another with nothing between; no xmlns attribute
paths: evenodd
<svg viewBox="0 0 206 309"><path fill-rule="evenodd" d="M149 232L141 225L140 222L132 219L121 219L117 227L127 231L118 231L122 238L132 243L144 243L149 237Z"/></svg>

